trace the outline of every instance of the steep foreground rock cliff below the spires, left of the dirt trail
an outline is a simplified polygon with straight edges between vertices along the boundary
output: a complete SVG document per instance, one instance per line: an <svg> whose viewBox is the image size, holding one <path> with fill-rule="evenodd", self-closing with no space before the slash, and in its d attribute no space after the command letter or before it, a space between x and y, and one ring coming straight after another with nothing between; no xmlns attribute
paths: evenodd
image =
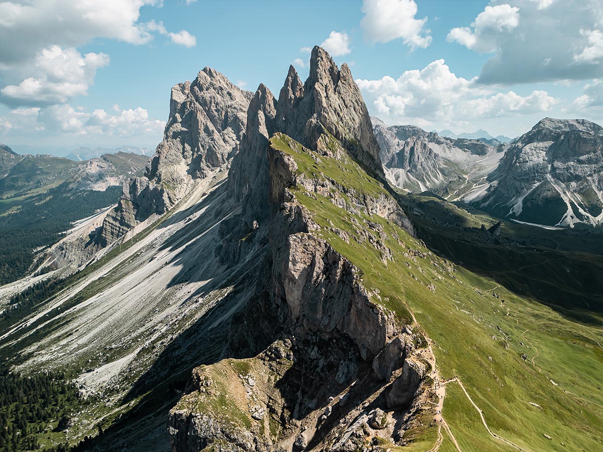
<svg viewBox="0 0 603 452"><path fill-rule="evenodd" d="M362 447L366 434L399 440L429 397L425 368L413 358L417 336L374 300L359 269L317 234L321 227L289 190L303 186L318 195L335 186L300 174L282 151L283 143L301 149L297 142L282 134L270 142L268 310L280 312L282 333L253 358L195 369L188 394L171 412L173 448L310 450L323 444L345 451ZM383 212L395 204L373 201ZM389 212L396 215L402 220L401 211ZM232 402L227 411L216 409L220 397ZM396 427L394 418L405 422Z"/></svg>

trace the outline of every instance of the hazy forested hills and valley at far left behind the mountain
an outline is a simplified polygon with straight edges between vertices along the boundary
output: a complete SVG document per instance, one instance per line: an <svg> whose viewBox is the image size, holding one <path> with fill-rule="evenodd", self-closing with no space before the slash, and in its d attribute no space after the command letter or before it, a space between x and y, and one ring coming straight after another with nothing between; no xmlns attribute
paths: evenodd
<svg viewBox="0 0 603 452"><path fill-rule="evenodd" d="M124 181L142 175L147 160L117 152L74 162L0 145L0 284L24 275L34 250L56 242L72 222L118 202Z"/></svg>

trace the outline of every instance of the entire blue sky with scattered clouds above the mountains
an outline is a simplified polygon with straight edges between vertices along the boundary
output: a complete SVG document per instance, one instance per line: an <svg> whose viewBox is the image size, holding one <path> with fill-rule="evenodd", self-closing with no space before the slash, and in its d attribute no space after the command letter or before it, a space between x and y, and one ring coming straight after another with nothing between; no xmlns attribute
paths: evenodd
<svg viewBox="0 0 603 452"><path fill-rule="evenodd" d="M321 44L388 124L600 123L602 30L600 0L0 0L0 142L154 148L175 83L210 66L277 94Z"/></svg>

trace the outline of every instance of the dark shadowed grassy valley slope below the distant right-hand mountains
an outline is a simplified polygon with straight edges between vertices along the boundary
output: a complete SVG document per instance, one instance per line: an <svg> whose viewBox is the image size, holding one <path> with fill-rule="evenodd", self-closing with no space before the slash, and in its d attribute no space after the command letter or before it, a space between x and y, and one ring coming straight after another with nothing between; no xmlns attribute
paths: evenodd
<svg viewBox="0 0 603 452"><path fill-rule="evenodd" d="M419 236L438 254L564 315L601 324L603 236L597 230L545 230L504 221L500 236L482 232L499 219L437 196L400 198Z"/></svg>

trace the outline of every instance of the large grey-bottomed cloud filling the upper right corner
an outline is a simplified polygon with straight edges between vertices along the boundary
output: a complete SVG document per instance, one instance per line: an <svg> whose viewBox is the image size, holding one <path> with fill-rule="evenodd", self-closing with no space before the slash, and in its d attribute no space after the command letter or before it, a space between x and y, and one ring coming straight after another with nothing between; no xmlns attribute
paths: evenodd
<svg viewBox="0 0 603 452"><path fill-rule="evenodd" d="M491 0L470 27L447 36L493 52L478 83L588 80L603 74L601 0Z"/></svg>

